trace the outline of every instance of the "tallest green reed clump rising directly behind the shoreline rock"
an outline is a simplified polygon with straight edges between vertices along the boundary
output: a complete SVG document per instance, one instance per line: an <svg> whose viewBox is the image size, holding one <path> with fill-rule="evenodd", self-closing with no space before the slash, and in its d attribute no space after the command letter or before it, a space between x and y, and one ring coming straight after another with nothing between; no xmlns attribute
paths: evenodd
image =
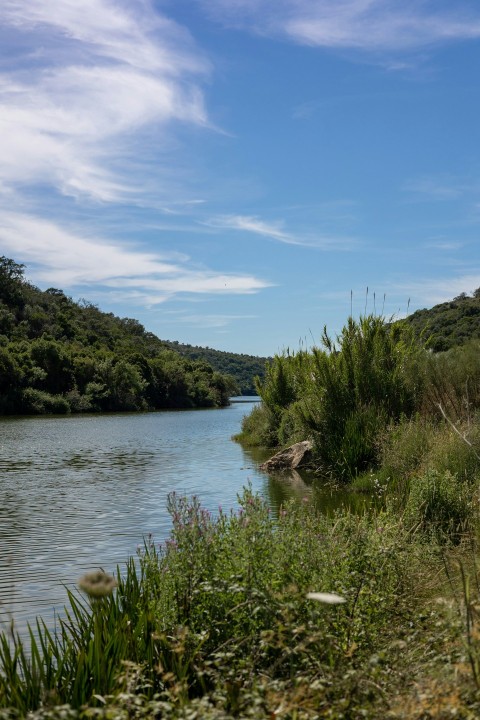
<svg viewBox="0 0 480 720"><path fill-rule="evenodd" d="M385 426L415 410L418 348L401 325L373 315L349 318L336 344L324 331L323 346L313 350L303 419L324 468L349 480L376 461Z"/></svg>

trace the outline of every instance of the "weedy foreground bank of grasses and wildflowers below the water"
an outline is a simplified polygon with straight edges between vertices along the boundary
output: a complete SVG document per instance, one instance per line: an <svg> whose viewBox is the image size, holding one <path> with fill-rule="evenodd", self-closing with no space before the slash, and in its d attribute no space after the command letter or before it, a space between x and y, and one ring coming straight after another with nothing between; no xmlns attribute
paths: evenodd
<svg viewBox="0 0 480 720"><path fill-rule="evenodd" d="M248 489L216 517L172 495L170 538L115 589L0 639L0 718L479 717L475 533L431 496L273 518Z"/></svg>

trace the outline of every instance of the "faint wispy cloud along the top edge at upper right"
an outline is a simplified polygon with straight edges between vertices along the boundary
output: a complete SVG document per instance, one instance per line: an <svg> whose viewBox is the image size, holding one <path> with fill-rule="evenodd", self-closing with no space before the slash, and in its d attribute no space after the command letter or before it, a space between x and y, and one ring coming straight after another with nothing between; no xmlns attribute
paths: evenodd
<svg viewBox="0 0 480 720"><path fill-rule="evenodd" d="M388 53L480 37L467 0L204 0L226 24L326 48Z"/></svg>

